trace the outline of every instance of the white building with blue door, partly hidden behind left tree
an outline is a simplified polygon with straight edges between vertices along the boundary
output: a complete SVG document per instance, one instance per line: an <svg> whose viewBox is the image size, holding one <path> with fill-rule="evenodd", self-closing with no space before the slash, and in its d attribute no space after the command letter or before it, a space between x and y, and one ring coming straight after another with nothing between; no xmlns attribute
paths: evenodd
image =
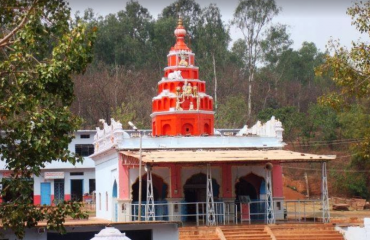
<svg viewBox="0 0 370 240"><path fill-rule="evenodd" d="M30 197L33 197L34 204L51 205L53 201L83 201L84 198L92 201L96 185L95 164L88 156L94 153L95 133L95 130L79 130L68 146L71 152L83 157L82 163L73 165L55 160L46 164L40 176L29 179L33 184L33 196ZM0 179L8 178L10 174L11 171L5 168L5 161L0 161ZM0 198L0 201L7 201L11 197L10 194Z"/></svg>

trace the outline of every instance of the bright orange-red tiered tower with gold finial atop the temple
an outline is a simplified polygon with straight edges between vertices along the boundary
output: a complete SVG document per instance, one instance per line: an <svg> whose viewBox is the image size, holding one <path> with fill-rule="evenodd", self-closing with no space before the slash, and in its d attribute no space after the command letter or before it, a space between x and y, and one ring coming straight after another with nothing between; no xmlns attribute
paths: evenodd
<svg viewBox="0 0 370 240"><path fill-rule="evenodd" d="M152 100L152 135L213 135L213 98L205 92L205 81L198 79L199 68L184 41L186 30L181 18L175 36L164 77L158 82L158 95Z"/></svg>

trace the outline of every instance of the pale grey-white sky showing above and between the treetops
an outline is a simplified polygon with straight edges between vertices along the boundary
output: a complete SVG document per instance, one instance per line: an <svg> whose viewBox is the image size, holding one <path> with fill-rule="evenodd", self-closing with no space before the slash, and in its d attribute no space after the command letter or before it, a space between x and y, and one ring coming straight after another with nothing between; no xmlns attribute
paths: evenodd
<svg viewBox="0 0 370 240"><path fill-rule="evenodd" d="M67 0L72 12L83 12L87 8L94 9L100 16L116 13L123 10L128 0ZM174 0L138 0L147 8L154 18L158 17L162 9ZM225 23L229 23L238 5L239 0L196 0L201 7L215 3L221 10ZM304 41L313 42L325 51L328 41L339 39L341 44L351 46L352 41L361 39L369 41L369 37L361 35L351 25L351 17L346 14L347 8L353 5L353 0L276 0L282 11L273 19L273 23L288 25L288 32L294 41L293 48L299 49ZM240 30L230 29L233 41L242 37Z"/></svg>

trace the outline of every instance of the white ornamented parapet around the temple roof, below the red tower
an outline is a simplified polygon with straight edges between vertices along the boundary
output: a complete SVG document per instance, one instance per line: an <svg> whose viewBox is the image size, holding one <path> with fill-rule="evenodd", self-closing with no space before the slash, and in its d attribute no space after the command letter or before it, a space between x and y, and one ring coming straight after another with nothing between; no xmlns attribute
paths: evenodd
<svg viewBox="0 0 370 240"><path fill-rule="evenodd" d="M284 129L279 120L272 117L262 124L257 122L252 128L215 130L213 136L151 136L151 130L123 130L119 121L111 119L111 125L104 120L103 128L96 128L94 155L109 149L138 150L140 134L143 135L143 149L281 149L284 147ZM231 133L231 134L228 134Z"/></svg>

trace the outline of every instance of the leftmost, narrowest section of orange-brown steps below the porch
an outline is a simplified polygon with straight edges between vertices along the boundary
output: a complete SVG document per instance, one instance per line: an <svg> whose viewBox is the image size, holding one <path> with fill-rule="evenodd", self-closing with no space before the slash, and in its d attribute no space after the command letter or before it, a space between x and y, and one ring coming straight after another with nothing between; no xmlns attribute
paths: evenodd
<svg viewBox="0 0 370 240"><path fill-rule="evenodd" d="M220 240L216 227L181 227L179 240Z"/></svg>

